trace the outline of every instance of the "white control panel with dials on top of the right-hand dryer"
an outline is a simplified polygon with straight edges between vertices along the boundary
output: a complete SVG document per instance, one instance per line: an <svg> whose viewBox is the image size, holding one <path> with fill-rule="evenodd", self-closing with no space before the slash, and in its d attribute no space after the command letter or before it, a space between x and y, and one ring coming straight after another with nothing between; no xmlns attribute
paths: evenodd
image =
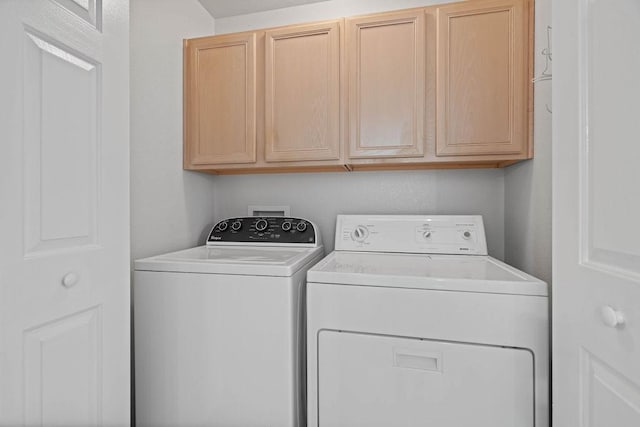
<svg viewBox="0 0 640 427"><path fill-rule="evenodd" d="M338 215L336 250L487 255L480 215Z"/></svg>

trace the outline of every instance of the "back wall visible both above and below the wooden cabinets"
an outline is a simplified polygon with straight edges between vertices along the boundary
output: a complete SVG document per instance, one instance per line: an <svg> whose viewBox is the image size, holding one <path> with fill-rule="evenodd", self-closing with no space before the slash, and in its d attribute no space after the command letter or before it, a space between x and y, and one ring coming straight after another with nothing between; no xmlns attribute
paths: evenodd
<svg viewBox="0 0 640 427"><path fill-rule="evenodd" d="M437 3L428 0L331 0L216 20L217 33L266 28ZM504 172L419 170L221 176L215 181L217 218L244 215L247 205L290 205L292 215L321 227L333 249L339 213L484 215L489 251L504 257Z"/></svg>

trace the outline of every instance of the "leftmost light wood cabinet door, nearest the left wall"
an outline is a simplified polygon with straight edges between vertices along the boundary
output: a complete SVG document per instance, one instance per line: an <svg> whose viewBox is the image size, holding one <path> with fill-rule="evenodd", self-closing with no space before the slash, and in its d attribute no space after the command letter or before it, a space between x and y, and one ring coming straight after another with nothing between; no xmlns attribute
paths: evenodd
<svg viewBox="0 0 640 427"><path fill-rule="evenodd" d="M256 35L185 41L185 167L256 161Z"/></svg>

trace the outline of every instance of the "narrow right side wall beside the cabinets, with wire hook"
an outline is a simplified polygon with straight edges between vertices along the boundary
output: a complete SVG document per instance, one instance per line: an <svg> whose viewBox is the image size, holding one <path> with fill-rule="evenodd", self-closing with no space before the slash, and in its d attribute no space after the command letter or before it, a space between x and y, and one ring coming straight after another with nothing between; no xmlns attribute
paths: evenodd
<svg viewBox="0 0 640 427"><path fill-rule="evenodd" d="M551 25L551 1L536 2L535 75ZM535 85L534 159L505 169L505 261L551 283L551 81Z"/></svg>

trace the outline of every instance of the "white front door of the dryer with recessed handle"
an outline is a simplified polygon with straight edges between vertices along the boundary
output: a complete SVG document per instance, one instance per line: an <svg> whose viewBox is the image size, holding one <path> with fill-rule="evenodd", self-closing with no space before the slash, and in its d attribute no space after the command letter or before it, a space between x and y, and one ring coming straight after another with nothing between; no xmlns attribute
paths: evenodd
<svg viewBox="0 0 640 427"><path fill-rule="evenodd" d="M522 349L338 331L318 336L321 427L533 427Z"/></svg>

